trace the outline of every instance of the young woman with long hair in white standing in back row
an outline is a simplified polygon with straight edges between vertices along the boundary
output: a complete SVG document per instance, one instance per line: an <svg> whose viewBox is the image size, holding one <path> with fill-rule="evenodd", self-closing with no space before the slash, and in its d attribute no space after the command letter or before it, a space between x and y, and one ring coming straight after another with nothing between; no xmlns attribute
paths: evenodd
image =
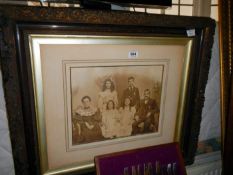
<svg viewBox="0 0 233 175"><path fill-rule="evenodd" d="M115 108L118 106L117 92L115 90L114 83L111 79L104 81L103 89L99 93L98 108L100 112L106 110L107 102L112 100L115 104Z"/></svg>

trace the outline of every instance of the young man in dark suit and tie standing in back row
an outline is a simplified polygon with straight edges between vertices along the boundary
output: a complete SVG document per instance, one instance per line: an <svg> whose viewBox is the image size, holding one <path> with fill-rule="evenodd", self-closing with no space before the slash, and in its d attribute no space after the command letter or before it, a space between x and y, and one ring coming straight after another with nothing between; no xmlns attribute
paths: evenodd
<svg viewBox="0 0 233 175"><path fill-rule="evenodd" d="M135 109L138 110L140 104L140 96L138 88L135 87L134 80L134 77L128 78L128 88L125 89L123 92L122 105L124 104L125 98L129 98L130 106L135 107Z"/></svg>

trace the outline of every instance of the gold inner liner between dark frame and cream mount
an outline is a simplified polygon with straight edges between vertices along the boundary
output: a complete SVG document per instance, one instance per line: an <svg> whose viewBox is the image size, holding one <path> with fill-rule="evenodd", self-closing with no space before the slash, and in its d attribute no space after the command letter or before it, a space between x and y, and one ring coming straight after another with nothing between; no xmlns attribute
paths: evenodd
<svg viewBox="0 0 233 175"><path fill-rule="evenodd" d="M36 124L38 131L40 166L43 175L58 175L68 172L85 172L94 169L94 163L84 165L70 165L59 169L48 169L48 153L46 143L46 126L44 115L43 80L40 57L40 44L111 44L111 45L183 45L185 46L185 58L179 101L177 108L176 131L174 141L179 142L186 104L187 82L191 60L192 38L181 37L128 37L128 36L71 36L71 35L29 35L29 48L32 66L33 88L36 109Z"/></svg>

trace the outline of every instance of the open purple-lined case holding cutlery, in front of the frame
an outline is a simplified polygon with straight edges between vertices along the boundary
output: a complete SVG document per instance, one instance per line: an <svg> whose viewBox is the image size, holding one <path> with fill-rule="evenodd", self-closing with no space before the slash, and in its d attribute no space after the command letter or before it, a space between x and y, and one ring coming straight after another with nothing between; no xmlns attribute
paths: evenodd
<svg viewBox="0 0 233 175"><path fill-rule="evenodd" d="M177 143L121 151L95 157L97 175L186 175Z"/></svg>

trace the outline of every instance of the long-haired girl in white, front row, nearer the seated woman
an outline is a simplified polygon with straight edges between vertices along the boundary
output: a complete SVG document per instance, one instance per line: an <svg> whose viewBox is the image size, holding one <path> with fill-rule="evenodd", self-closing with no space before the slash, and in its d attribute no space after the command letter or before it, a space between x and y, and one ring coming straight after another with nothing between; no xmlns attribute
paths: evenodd
<svg viewBox="0 0 233 175"><path fill-rule="evenodd" d="M118 136L120 129L119 112L115 109L113 100L109 100L106 110L102 112L102 135L104 138L114 138Z"/></svg>

